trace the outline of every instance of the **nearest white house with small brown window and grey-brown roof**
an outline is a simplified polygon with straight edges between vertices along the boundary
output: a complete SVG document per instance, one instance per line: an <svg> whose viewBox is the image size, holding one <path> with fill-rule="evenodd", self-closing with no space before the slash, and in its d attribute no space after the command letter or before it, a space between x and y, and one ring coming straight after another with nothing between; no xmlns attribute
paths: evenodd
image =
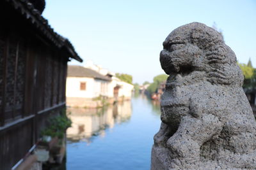
<svg viewBox="0 0 256 170"><path fill-rule="evenodd" d="M88 106L93 98L108 97L111 78L83 66L68 66L67 105ZM97 107L97 103L94 104Z"/></svg>

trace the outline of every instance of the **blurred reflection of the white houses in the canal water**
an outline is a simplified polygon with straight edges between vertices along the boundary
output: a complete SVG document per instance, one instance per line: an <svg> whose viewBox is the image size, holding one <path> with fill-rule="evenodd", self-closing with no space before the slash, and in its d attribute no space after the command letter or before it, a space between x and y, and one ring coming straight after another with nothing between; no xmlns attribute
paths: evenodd
<svg viewBox="0 0 256 170"><path fill-rule="evenodd" d="M92 136L104 136L106 128L115 123L126 122L131 118L131 101L116 103L99 109L68 108L72 127L67 129L67 138L73 141L84 140L90 143Z"/></svg>

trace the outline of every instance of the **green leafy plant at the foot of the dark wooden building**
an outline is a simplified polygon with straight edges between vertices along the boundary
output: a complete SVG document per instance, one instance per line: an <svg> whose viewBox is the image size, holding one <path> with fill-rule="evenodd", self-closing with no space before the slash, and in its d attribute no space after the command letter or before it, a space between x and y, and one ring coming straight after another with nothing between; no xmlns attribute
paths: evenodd
<svg viewBox="0 0 256 170"><path fill-rule="evenodd" d="M71 120L67 117L65 111L56 117L49 119L49 126L45 128L42 136L58 137L62 139L68 127L71 127Z"/></svg>

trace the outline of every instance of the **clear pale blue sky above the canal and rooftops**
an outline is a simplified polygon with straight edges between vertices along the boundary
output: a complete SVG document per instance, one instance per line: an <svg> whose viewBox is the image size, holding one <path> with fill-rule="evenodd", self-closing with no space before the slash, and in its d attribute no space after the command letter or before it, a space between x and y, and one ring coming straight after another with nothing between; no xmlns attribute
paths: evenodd
<svg viewBox="0 0 256 170"><path fill-rule="evenodd" d="M163 74L159 53L180 25L202 22L223 31L239 62L256 67L256 1L86 1L46 0L43 16L68 38L80 57L134 83ZM83 65L72 60L69 64Z"/></svg>

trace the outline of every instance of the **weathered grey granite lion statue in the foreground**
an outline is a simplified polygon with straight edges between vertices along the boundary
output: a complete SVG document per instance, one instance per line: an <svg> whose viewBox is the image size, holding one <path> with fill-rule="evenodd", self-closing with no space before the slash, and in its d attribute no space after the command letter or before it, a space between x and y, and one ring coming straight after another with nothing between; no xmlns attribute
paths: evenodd
<svg viewBox="0 0 256 170"><path fill-rule="evenodd" d="M221 34L193 22L161 51L170 74L151 169L256 169L256 122L235 53Z"/></svg>

